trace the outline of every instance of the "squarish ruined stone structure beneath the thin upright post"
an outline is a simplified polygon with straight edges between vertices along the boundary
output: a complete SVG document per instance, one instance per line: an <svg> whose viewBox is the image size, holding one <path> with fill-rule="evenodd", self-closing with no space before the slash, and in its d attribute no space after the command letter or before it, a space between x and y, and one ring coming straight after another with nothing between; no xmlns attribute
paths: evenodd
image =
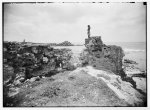
<svg viewBox="0 0 150 110"><path fill-rule="evenodd" d="M122 70L124 52L121 47L105 45L101 36L91 36L85 39L88 64L97 69L106 69L125 76Z"/></svg>

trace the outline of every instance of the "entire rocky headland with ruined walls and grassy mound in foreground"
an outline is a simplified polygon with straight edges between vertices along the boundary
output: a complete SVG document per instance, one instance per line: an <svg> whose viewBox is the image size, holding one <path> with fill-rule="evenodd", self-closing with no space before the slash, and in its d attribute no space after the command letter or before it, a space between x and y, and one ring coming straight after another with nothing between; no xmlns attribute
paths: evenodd
<svg viewBox="0 0 150 110"><path fill-rule="evenodd" d="M100 36L86 49L4 43L4 106L146 106L146 72ZM131 74L132 73L132 74Z"/></svg>

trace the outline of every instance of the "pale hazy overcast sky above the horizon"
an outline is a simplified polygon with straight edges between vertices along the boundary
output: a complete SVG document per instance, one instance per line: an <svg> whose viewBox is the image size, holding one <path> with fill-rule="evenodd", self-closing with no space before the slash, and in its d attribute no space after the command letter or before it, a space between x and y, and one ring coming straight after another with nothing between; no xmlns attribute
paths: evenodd
<svg viewBox="0 0 150 110"><path fill-rule="evenodd" d="M146 6L142 3L5 4L4 40L82 42L92 36L104 42L143 42Z"/></svg>

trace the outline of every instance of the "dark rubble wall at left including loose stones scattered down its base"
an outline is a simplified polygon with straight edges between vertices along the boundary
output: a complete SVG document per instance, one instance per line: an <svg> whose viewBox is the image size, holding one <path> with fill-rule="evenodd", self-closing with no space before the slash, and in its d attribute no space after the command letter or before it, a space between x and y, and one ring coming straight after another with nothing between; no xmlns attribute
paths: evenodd
<svg viewBox="0 0 150 110"><path fill-rule="evenodd" d="M16 42L3 43L4 106L18 91L12 88L27 87L41 78L50 77L64 70L72 70L70 49L54 49L48 45L24 45Z"/></svg>

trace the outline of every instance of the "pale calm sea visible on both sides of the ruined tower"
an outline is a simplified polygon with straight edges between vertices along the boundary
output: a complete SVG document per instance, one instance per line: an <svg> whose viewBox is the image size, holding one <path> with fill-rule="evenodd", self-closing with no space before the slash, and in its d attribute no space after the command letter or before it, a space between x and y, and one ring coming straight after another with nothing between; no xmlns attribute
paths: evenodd
<svg viewBox="0 0 150 110"><path fill-rule="evenodd" d="M124 50L124 59L136 61L136 65L141 71L146 71L146 43L145 42L106 42L106 45L121 46ZM54 48L69 48L78 57L85 49L85 46L56 46Z"/></svg>

